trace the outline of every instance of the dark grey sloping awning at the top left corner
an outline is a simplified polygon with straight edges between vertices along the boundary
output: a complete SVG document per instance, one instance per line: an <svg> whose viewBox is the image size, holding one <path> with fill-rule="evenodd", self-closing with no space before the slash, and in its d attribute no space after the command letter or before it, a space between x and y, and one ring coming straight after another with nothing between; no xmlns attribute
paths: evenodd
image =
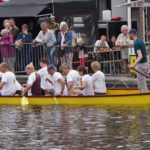
<svg viewBox="0 0 150 150"><path fill-rule="evenodd" d="M10 0L0 5L0 17L36 17L51 0Z"/></svg>

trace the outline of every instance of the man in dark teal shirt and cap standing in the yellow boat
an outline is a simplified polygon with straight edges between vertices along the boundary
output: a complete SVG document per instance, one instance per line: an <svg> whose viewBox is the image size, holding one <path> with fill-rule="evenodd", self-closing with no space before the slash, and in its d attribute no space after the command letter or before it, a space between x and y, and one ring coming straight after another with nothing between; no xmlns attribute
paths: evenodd
<svg viewBox="0 0 150 150"><path fill-rule="evenodd" d="M147 54L146 54L146 48L143 40L139 39L137 37L137 31L135 29L131 29L129 32L130 38L134 40L134 50L136 54L136 61L134 64L129 65L129 68L137 68L137 81L138 81L138 89L141 93L147 93L148 87L146 83L146 77L142 74L148 73L148 61L147 61Z"/></svg>

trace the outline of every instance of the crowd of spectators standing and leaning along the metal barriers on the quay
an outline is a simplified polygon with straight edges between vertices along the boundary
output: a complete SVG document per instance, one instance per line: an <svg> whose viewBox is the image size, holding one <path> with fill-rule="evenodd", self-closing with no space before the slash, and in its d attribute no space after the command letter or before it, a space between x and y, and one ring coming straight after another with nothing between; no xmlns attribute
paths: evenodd
<svg viewBox="0 0 150 150"><path fill-rule="evenodd" d="M15 63L15 50L9 45L15 43L16 48L22 48L25 44L36 44L40 43L47 49L47 57L51 64L56 65L55 57L57 61L61 64L66 63L68 66L72 67L74 48L78 52L80 58L80 65L85 66L86 61L86 44L84 41L84 36L76 37L72 29L70 29L66 22L62 21L60 24L55 22L55 17L51 18L53 24L47 22L41 22L41 31L38 33L35 39L33 39L32 33L29 31L27 24L23 24L21 27L21 32L16 26L15 19L5 19L3 21L4 29L1 31L0 45L1 45L1 57L2 61L7 62L10 66L11 71L14 71ZM56 30L58 31L56 34ZM128 47L132 45L133 42L130 40L128 35L128 27L123 25L121 27L121 34L118 38L112 35L111 39L107 41L105 35L101 35L100 39L95 42L93 51L100 51L101 48L114 49L119 47L121 49L121 55L124 62L124 70L127 72L127 64L129 59ZM31 46L31 45L30 45ZM26 56L29 61L31 60L31 48L29 45L26 46ZM21 53L22 51L20 51ZM23 55L20 55L22 62L25 59ZM29 63L29 62L27 62ZM25 66L26 64L22 65ZM22 68L24 69L24 68Z"/></svg>

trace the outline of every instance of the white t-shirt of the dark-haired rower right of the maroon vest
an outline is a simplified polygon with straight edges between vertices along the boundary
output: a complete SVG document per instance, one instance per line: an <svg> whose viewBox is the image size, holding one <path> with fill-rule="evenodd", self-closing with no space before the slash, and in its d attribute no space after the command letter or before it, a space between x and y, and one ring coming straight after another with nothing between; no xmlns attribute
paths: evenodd
<svg viewBox="0 0 150 150"><path fill-rule="evenodd" d="M41 77L41 89L50 90L52 85L46 81L47 78L50 78L50 75L48 74L48 71L47 71L47 67L40 69L37 73Z"/></svg>

